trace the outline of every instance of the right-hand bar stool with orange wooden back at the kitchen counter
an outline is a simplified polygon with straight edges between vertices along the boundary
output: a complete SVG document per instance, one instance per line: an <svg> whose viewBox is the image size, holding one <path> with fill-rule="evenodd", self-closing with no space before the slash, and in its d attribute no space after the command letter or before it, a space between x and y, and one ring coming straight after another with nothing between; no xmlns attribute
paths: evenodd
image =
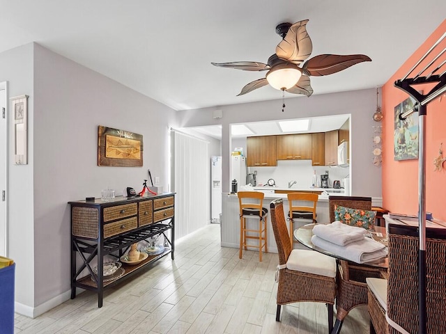
<svg viewBox="0 0 446 334"><path fill-rule="evenodd" d="M291 245L293 245L293 242L298 242L293 238L294 219L309 219L312 221L312 223L317 223L316 205L318 204L319 196L317 193L287 193L286 196L288 197L288 205L290 210L290 241ZM299 201L299 203L297 203L297 201Z"/></svg>

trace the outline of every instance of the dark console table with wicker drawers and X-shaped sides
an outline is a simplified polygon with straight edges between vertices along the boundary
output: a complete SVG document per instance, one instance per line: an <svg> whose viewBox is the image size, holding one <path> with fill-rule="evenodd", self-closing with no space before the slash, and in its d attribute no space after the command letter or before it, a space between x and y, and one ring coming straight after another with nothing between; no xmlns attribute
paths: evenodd
<svg viewBox="0 0 446 334"><path fill-rule="evenodd" d="M111 201L95 199L68 202L71 205L71 299L76 288L98 293L98 307L102 307L104 289L147 269L149 264L171 254L174 260L174 193L148 197L116 197ZM167 231L171 231L170 236ZM137 265L122 264L124 272L112 280L103 276L104 257L116 260L138 241L162 235L164 252L149 255ZM77 260L81 258L79 264ZM97 259L98 274L91 262ZM84 269L88 273L85 274Z"/></svg>

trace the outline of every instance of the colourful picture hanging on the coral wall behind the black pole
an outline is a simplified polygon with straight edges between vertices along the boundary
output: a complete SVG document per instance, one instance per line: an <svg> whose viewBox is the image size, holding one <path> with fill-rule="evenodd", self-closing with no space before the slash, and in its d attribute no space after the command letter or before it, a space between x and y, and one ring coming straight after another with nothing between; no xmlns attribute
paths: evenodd
<svg viewBox="0 0 446 334"><path fill-rule="evenodd" d="M418 159L418 113L412 113L405 120L399 115L415 105L413 97L394 108L394 159L396 161Z"/></svg>

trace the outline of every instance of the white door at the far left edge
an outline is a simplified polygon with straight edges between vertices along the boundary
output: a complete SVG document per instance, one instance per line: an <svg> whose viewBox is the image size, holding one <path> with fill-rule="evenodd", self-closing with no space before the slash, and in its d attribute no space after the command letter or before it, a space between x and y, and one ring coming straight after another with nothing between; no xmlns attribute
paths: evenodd
<svg viewBox="0 0 446 334"><path fill-rule="evenodd" d="M6 193L7 157L8 157L8 113L6 111L6 82L0 82L0 256L7 254Z"/></svg>

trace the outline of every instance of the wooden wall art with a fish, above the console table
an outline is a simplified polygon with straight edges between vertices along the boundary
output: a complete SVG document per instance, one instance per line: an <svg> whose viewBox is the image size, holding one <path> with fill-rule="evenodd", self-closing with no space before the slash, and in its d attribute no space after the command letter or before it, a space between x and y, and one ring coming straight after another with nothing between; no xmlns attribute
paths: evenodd
<svg viewBox="0 0 446 334"><path fill-rule="evenodd" d="M98 127L98 166L142 166L143 148L141 134Z"/></svg>

